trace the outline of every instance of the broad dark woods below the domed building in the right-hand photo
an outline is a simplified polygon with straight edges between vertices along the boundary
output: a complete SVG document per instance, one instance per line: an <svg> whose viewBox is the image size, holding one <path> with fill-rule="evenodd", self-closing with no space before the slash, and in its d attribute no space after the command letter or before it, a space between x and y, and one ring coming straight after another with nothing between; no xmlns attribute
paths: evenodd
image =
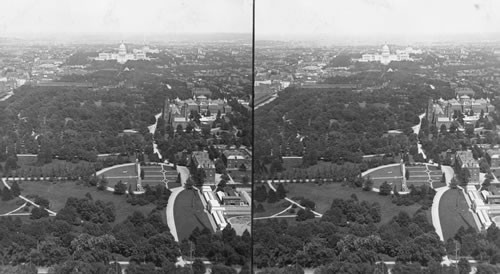
<svg viewBox="0 0 500 274"><path fill-rule="evenodd" d="M402 150L416 156L412 127L419 123L418 115L425 112L430 98L450 98L453 91L446 83L429 80L440 88L433 90L427 79L405 72L372 74L360 73L346 81L373 78L386 87L359 92L298 87L282 91L255 113L256 159L269 165L280 156L303 156L307 167L318 159L361 163L363 155L391 157ZM409 82L400 81L400 76ZM388 134L389 130L401 134Z"/></svg>

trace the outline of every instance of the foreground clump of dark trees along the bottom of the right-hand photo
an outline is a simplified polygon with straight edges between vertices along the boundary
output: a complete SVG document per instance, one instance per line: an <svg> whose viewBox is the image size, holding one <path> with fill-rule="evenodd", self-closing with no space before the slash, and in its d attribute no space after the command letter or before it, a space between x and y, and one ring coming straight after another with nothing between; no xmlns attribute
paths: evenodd
<svg viewBox="0 0 500 274"><path fill-rule="evenodd" d="M320 273L374 273L378 261L428 266L446 254L423 211L413 217L402 211L389 223L379 223L380 205L342 199L335 199L319 221L257 221L254 264L319 267Z"/></svg>

